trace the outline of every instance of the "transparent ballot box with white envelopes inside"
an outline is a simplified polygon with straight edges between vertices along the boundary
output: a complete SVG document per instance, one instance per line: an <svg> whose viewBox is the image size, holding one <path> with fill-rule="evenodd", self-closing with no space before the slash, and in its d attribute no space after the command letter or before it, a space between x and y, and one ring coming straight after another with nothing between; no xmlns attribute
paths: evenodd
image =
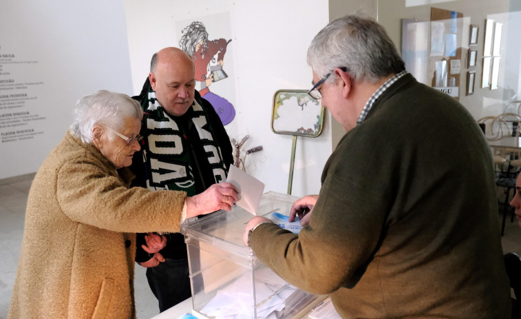
<svg viewBox="0 0 521 319"><path fill-rule="evenodd" d="M295 200L267 192L257 216L287 216ZM298 318L319 298L289 285L244 245L244 228L252 217L236 205L182 227L193 310L206 318Z"/></svg>

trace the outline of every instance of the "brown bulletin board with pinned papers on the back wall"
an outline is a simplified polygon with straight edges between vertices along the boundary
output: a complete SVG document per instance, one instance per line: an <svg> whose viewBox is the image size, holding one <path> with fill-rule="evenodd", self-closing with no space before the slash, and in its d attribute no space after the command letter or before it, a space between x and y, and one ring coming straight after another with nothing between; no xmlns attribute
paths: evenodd
<svg viewBox="0 0 521 319"><path fill-rule="evenodd" d="M459 100L463 14L431 8L429 74L432 87Z"/></svg>

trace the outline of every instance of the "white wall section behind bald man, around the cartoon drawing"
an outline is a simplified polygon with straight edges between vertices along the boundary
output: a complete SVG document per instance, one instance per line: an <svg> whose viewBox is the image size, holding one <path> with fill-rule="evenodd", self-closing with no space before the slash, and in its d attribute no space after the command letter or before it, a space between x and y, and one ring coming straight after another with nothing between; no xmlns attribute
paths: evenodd
<svg viewBox="0 0 521 319"><path fill-rule="evenodd" d="M328 1L179 1L125 0L129 52L134 92L140 92L149 72L153 52L178 46L178 21L228 12L231 25L237 111L233 125L226 125L231 138L249 134L247 147L264 150L249 157L246 171L266 183L266 191L285 193L292 136L271 132L273 94L280 89L308 89L312 79L306 51L315 34L328 23ZM209 31L210 33L210 31ZM209 36L209 39L215 37ZM228 59L228 51L225 59ZM230 75L230 74L228 74ZM228 96L226 96L228 97ZM292 194L318 193L320 176L331 154L330 116L318 138L297 138Z"/></svg>

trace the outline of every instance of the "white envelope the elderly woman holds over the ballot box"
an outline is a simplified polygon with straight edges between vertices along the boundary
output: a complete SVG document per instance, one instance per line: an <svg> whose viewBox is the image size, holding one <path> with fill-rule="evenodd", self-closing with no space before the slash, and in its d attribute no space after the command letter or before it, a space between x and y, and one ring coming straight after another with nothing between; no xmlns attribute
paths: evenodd
<svg viewBox="0 0 521 319"><path fill-rule="evenodd" d="M230 165L226 181L239 189L237 205L255 215L255 212L259 209L262 192L264 192L264 183L234 165Z"/></svg>

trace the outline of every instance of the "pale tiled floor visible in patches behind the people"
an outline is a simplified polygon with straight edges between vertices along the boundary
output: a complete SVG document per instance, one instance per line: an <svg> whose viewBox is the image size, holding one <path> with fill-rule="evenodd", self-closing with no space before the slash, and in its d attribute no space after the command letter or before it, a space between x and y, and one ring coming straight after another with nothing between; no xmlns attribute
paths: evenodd
<svg viewBox="0 0 521 319"><path fill-rule="evenodd" d="M32 175L0 180L0 319L6 319L14 277L23 236L25 205L32 182ZM498 215L499 223L499 215ZM521 255L521 229L517 220L507 220L502 237L503 251L513 251ZM136 265L135 276L136 311L138 319L146 319L158 314L157 300L151 293L145 268Z"/></svg>

